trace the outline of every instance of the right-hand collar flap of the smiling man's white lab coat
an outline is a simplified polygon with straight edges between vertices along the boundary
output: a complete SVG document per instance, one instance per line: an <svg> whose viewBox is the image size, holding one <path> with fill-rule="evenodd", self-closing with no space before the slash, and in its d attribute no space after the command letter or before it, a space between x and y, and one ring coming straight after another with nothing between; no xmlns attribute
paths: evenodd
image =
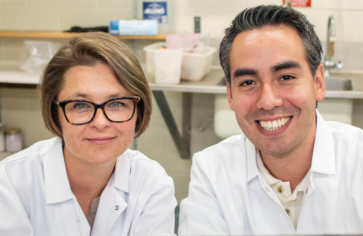
<svg viewBox="0 0 363 236"><path fill-rule="evenodd" d="M311 160L311 171L321 174L335 174L333 133L318 110L316 110L316 117L317 127L315 131L313 159Z"/></svg>

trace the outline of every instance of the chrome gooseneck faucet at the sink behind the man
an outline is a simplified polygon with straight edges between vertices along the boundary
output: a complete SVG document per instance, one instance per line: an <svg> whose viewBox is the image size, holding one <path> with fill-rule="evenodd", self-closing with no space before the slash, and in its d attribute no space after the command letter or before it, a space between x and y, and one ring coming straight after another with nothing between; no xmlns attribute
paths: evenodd
<svg viewBox="0 0 363 236"><path fill-rule="evenodd" d="M328 33L326 39L326 53L324 59L324 77L329 77L329 70L333 68L340 69L342 68L342 63L338 61L335 63L331 60L331 57L334 56L334 42L335 42L335 20L333 16L329 17L328 21Z"/></svg>

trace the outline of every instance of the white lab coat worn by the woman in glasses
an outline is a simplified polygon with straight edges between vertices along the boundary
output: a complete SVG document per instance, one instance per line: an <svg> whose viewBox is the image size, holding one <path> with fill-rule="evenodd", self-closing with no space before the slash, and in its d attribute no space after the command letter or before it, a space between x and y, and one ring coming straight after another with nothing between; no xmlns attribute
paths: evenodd
<svg viewBox="0 0 363 236"><path fill-rule="evenodd" d="M156 161L127 149L103 190L92 231L66 173L60 138L0 162L0 235L171 235L174 183Z"/></svg>

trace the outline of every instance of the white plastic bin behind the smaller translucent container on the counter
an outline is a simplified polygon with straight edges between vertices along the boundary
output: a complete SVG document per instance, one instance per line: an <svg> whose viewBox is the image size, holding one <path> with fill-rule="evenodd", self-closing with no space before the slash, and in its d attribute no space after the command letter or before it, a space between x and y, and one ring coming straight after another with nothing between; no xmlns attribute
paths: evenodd
<svg viewBox="0 0 363 236"><path fill-rule="evenodd" d="M150 77L155 76L154 52L165 46L165 42L157 42L144 47L146 52L146 73ZM181 61L181 79L189 81L199 81L212 69L214 47L206 47L203 53L183 52Z"/></svg>

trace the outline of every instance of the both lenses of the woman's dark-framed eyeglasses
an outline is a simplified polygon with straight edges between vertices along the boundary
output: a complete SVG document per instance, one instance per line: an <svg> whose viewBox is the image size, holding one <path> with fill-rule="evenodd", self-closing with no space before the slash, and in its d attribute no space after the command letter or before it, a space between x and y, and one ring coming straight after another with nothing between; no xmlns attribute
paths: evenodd
<svg viewBox="0 0 363 236"><path fill-rule="evenodd" d="M94 106L89 102L70 102L66 104L65 115L72 123L89 122L94 115ZM119 99L105 104L105 113L112 121L130 119L134 112L134 102L129 99Z"/></svg>

